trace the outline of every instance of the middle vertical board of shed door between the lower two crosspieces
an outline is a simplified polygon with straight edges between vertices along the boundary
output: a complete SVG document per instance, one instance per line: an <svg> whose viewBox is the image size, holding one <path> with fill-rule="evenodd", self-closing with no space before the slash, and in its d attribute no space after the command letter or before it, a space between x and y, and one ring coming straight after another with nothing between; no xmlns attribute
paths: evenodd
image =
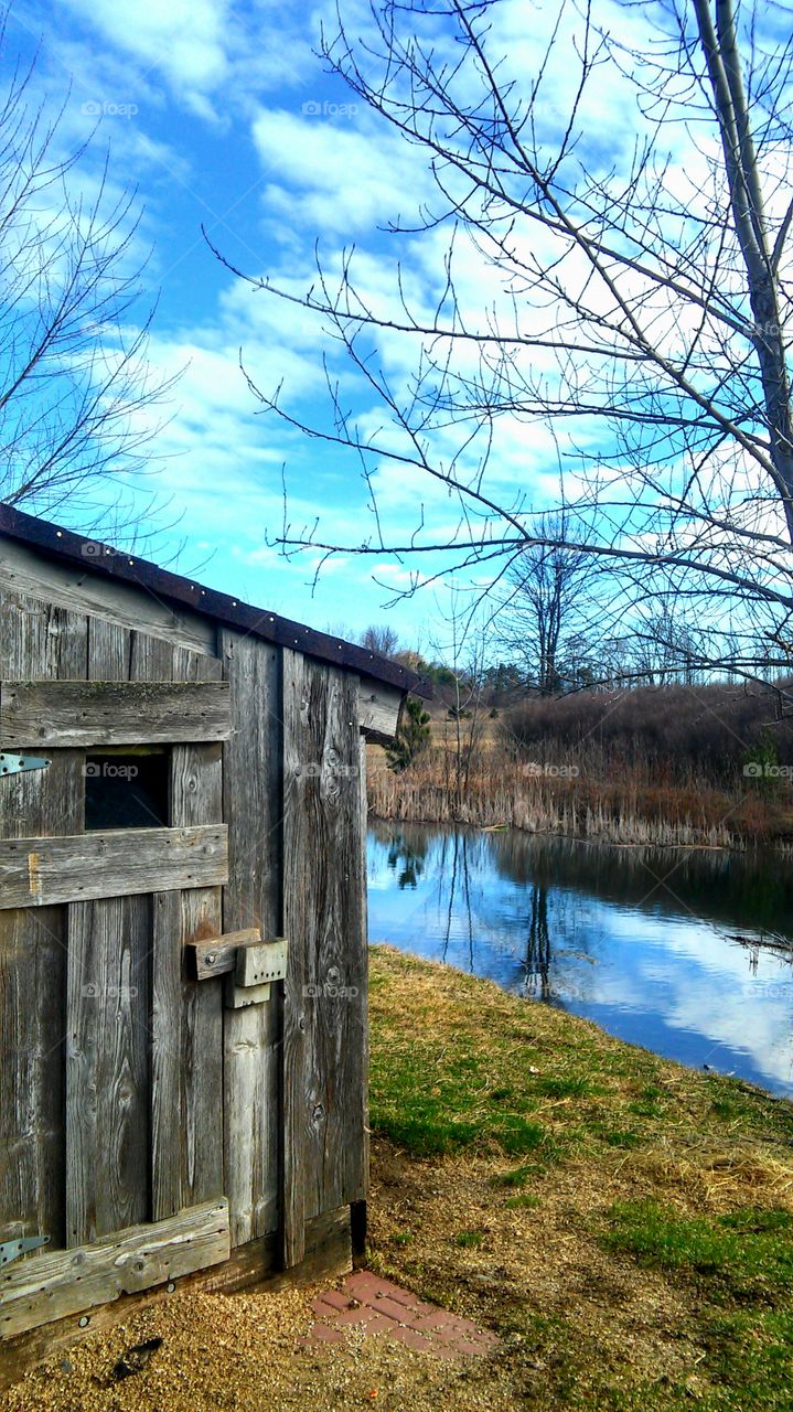
<svg viewBox="0 0 793 1412"><path fill-rule="evenodd" d="M69 908L66 1244L148 1217L148 897Z"/></svg>

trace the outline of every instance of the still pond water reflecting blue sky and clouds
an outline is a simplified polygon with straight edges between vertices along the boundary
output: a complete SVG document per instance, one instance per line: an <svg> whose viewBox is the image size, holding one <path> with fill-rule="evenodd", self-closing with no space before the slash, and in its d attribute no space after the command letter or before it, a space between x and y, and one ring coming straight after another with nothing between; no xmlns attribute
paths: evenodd
<svg viewBox="0 0 793 1412"><path fill-rule="evenodd" d="M793 863L375 825L370 939L793 1096Z"/></svg>

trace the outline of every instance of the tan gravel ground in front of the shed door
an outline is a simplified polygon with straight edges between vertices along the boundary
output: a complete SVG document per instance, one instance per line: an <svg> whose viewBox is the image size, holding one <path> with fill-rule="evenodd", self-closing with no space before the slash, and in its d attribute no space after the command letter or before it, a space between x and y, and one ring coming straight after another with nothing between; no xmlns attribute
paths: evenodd
<svg viewBox="0 0 793 1412"><path fill-rule="evenodd" d="M175 1295L110 1334L61 1354L0 1399L1 1412L198 1412L378 1406L388 1412L508 1408L492 1358L450 1363L351 1329L339 1347L302 1348L320 1288L286 1293ZM130 1350L162 1339L140 1371L119 1380ZM516 1405L516 1404L515 1404Z"/></svg>

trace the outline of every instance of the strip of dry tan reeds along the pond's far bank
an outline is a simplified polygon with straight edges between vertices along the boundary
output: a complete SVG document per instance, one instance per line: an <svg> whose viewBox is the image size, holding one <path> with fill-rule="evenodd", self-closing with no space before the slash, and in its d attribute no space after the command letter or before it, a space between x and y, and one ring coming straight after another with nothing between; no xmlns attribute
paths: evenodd
<svg viewBox="0 0 793 1412"><path fill-rule="evenodd" d="M738 782L741 781L741 782ZM516 758L481 743L461 764L453 743L433 744L402 774L381 751L368 762L374 818L399 823L512 826L626 844L746 847L793 843L787 782L738 781L727 788L691 775L665 777L604 761L598 751Z"/></svg>

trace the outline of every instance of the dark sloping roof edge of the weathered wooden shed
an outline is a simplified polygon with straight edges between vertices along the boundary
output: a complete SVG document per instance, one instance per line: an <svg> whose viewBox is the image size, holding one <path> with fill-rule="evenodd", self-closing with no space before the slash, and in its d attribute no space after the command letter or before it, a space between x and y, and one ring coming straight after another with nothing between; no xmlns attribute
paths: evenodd
<svg viewBox="0 0 793 1412"><path fill-rule="evenodd" d="M37 515L28 515L11 505L0 504L0 537L3 535L32 545L48 558L79 565L86 575L123 580L157 599L169 599L172 603L190 607L229 627L253 633L268 642L296 648L320 662L346 666L353 672L373 676L375 681L387 682L405 692L415 692L419 696L432 695L429 683L389 657L370 652L365 647L346 642L329 633L317 633L316 628L306 627L303 623L293 623L278 613L243 603L229 593L206 587L196 579L185 579L169 569L161 569L148 559L114 549L110 544L87 539L72 530L62 530L48 520L40 520Z"/></svg>

